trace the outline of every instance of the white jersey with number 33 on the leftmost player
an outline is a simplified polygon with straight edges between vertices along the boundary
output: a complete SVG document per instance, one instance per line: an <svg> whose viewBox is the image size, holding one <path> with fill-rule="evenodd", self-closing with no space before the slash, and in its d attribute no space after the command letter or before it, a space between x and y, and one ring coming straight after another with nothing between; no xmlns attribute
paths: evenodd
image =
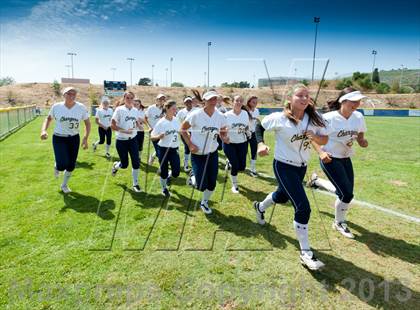
<svg viewBox="0 0 420 310"><path fill-rule="evenodd" d="M55 120L54 134L58 136L74 136L79 134L80 122L87 120L87 108L80 102L75 102L69 109L64 102L55 103L48 114Z"/></svg>

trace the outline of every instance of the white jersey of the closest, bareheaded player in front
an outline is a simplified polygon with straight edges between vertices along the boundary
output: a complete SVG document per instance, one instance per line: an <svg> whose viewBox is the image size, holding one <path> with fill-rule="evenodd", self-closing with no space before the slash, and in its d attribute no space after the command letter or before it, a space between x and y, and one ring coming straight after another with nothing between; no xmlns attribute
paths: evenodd
<svg viewBox="0 0 420 310"><path fill-rule="evenodd" d="M274 130L276 140L274 158L276 160L297 167L306 166L311 153L311 143L304 135L305 130L312 130L318 135L328 135L327 128L313 124L308 126L308 120L306 113L297 125L283 112L275 112L264 117L261 122L264 129Z"/></svg>

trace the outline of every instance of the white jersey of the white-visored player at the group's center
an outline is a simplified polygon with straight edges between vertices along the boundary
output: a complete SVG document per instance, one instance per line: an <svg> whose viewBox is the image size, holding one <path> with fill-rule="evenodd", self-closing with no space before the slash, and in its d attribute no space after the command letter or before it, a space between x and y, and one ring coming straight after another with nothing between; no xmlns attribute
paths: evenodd
<svg viewBox="0 0 420 310"><path fill-rule="evenodd" d="M226 127L226 118L215 110L212 116L200 108L185 119L191 125L191 142L198 147L197 154L206 155L217 150L220 128Z"/></svg>

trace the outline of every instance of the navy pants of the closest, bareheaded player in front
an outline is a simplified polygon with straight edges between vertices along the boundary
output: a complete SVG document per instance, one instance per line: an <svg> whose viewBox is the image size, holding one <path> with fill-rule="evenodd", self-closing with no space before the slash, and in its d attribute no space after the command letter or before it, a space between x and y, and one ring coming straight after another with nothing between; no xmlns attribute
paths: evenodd
<svg viewBox="0 0 420 310"><path fill-rule="evenodd" d="M277 190L273 193L274 202L286 203L290 199L295 208L295 221L300 224L308 224L311 207L302 184L306 166L295 167L274 160L273 169L279 183Z"/></svg>

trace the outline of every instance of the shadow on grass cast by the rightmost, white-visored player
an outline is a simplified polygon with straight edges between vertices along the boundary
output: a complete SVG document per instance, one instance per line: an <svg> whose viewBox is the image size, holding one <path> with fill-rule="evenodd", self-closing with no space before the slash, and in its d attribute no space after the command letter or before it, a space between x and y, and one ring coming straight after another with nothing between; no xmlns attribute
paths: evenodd
<svg viewBox="0 0 420 310"><path fill-rule="evenodd" d="M334 218L334 216L328 212L322 211L321 213ZM392 256L412 264L420 264L419 245L371 232L350 221L347 221L347 223L353 233L357 231L357 233L354 234L354 240L364 243L373 253L380 256Z"/></svg>

